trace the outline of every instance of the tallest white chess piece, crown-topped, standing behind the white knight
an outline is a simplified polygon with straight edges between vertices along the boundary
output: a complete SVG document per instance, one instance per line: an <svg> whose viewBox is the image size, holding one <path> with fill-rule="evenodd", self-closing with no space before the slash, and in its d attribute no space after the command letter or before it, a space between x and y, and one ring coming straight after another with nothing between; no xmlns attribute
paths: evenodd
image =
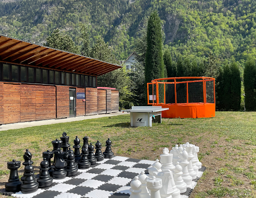
<svg viewBox="0 0 256 198"><path fill-rule="evenodd" d="M162 153L160 155L160 161L162 162L162 167L161 170L170 170L173 171L175 169L175 166L172 164L172 154L169 154L169 150L167 148L164 148L162 150ZM171 174L171 186L172 186L172 190L173 193L171 194L172 198L180 198L180 191L179 189L176 188L174 180L173 180L173 175Z"/></svg>

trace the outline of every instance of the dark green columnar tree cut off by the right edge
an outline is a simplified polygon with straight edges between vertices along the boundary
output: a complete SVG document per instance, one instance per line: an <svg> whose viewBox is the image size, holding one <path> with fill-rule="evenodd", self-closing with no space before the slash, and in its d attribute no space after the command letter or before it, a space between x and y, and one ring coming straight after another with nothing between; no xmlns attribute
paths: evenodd
<svg viewBox="0 0 256 198"><path fill-rule="evenodd" d="M245 93L245 110L256 110L256 66L255 61L249 58L244 65L243 84Z"/></svg>

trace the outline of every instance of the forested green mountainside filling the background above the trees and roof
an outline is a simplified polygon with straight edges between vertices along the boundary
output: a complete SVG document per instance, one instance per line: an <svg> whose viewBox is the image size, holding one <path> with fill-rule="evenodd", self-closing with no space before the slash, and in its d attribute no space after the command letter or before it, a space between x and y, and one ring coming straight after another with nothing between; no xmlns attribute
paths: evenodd
<svg viewBox="0 0 256 198"><path fill-rule="evenodd" d="M243 67L256 54L255 0L0 1L0 34L42 44L59 28L76 42L81 22L91 45L101 35L120 60L133 51L138 30L155 9L173 60L181 54L203 61L212 51L220 65L233 56Z"/></svg>

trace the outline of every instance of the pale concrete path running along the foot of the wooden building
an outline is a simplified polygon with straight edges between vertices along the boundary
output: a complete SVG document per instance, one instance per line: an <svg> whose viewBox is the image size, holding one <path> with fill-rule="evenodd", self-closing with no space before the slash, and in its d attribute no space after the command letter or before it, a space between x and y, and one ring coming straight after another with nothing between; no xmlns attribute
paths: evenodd
<svg viewBox="0 0 256 198"><path fill-rule="evenodd" d="M87 120L87 119L93 119L93 118L118 116L118 115L124 115L124 114L128 114L128 113L117 112L117 113L108 113L108 114L97 114L97 115L91 115L91 116L77 116L75 118L39 120L39 121L31 121L31 122L4 124L0 126L0 131L6 131L9 129L21 129L26 127L41 126L41 125L49 125L49 124L56 124L56 123L63 123L63 122L73 122L73 121Z"/></svg>

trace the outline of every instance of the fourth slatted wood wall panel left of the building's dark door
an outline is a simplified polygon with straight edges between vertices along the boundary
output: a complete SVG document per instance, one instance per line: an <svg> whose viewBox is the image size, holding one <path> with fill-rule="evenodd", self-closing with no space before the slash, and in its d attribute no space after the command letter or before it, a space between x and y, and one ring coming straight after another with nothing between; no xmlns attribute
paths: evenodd
<svg viewBox="0 0 256 198"><path fill-rule="evenodd" d="M3 123L20 122L19 84L3 83Z"/></svg>

